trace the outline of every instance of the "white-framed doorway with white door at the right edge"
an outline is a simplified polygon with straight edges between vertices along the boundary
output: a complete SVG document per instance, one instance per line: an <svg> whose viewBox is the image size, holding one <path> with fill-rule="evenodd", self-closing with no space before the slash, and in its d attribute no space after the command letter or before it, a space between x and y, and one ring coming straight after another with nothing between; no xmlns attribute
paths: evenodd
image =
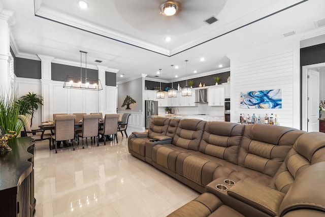
<svg viewBox="0 0 325 217"><path fill-rule="evenodd" d="M325 86L325 63L303 66L301 111L304 131L319 132L319 102L325 100L323 86Z"/></svg>

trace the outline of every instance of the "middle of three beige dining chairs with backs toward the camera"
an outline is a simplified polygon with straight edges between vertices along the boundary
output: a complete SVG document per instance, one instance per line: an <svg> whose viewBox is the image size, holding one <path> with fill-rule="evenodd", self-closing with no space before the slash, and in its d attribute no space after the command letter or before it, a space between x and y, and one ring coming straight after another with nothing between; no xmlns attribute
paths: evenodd
<svg viewBox="0 0 325 217"><path fill-rule="evenodd" d="M85 148L83 144L83 139L87 137L93 137L93 141L95 142L95 138L97 138L97 146L99 146L99 138L98 138L98 121L100 119L100 114L84 114L82 120L82 131L77 134L78 145L79 145L79 137L82 138L82 148Z"/></svg>

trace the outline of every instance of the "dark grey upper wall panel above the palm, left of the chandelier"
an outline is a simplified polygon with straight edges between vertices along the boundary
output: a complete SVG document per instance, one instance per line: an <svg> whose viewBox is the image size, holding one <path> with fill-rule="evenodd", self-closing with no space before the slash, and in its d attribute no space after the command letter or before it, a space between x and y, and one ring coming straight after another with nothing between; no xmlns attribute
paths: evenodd
<svg viewBox="0 0 325 217"><path fill-rule="evenodd" d="M14 73L21 78L42 78L41 61L15 57Z"/></svg>

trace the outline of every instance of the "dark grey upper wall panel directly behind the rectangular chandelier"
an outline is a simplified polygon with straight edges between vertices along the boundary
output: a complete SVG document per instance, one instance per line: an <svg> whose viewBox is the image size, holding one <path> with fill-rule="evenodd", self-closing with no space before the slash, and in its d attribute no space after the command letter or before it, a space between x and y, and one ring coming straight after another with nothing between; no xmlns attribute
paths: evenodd
<svg viewBox="0 0 325 217"><path fill-rule="evenodd" d="M80 77L80 67L52 63L51 70L54 81L65 81L67 75ZM82 68L82 77L86 77L85 68ZM87 69L87 78L98 79L98 70Z"/></svg>

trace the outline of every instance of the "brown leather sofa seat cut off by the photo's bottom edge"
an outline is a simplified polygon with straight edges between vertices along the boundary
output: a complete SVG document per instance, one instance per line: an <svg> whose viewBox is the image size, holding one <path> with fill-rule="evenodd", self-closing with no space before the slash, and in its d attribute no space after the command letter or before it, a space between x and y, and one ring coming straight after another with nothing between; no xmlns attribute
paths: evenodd
<svg viewBox="0 0 325 217"><path fill-rule="evenodd" d="M236 210L224 205L219 198L211 193L203 193L168 215L168 217L243 217Z"/></svg>

